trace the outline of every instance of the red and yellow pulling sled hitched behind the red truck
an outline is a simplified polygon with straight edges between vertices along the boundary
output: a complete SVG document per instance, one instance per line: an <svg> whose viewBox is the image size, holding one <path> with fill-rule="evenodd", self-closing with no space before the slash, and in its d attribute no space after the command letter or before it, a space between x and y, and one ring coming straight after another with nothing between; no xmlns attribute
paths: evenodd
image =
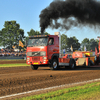
<svg viewBox="0 0 100 100"><path fill-rule="evenodd" d="M100 37L98 43L98 49L95 47L95 51L75 51L72 53L72 58L75 59L76 66L93 66L100 63Z"/></svg>

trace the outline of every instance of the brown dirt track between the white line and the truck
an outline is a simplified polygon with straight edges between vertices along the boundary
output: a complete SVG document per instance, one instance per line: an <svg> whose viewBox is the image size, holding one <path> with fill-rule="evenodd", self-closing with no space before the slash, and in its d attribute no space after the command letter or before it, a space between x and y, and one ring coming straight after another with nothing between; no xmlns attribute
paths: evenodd
<svg viewBox="0 0 100 100"><path fill-rule="evenodd" d="M38 70L30 67L0 68L0 96L97 78L100 78L100 67L61 68L57 71L48 67Z"/></svg>

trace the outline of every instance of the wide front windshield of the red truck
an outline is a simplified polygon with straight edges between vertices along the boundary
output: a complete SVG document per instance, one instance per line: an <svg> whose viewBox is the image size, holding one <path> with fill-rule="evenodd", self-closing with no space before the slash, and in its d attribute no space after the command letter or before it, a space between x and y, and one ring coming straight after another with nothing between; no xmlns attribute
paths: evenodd
<svg viewBox="0 0 100 100"><path fill-rule="evenodd" d="M33 38L28 40L28 47L32 46L47 46L47 37Z"/></svg>

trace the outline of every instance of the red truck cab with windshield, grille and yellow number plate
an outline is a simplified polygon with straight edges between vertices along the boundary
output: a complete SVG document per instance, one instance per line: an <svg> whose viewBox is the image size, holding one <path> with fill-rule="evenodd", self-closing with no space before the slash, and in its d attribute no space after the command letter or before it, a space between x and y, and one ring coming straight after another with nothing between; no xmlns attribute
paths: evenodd
<svg viewBox="0 0 100 100"><path fill-rule="evenodd" d="M32 69L51 64L59 56L59 37L57 35L35 35L29 37L27 44L27 64Z"/></svg>

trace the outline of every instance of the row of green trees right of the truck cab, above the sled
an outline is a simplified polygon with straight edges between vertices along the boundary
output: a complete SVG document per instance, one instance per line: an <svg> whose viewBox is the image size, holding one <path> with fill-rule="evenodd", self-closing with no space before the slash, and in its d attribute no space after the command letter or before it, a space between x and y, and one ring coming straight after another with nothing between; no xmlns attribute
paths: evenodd
<svg viewBox="0 0 100 100"><path fill-rule="evenodd" d="M72 46L73 51L84 51L84 47L86 48L86 51L95 51L95 47L98 50L99 40L95 40L93 38L90 40L88 38L85 38L81 43L79 43L79 40L75 36L69 38L67 37L67 35L62 34L61 40L62 49L67 48L68 50L71 50Z"/></svg>

